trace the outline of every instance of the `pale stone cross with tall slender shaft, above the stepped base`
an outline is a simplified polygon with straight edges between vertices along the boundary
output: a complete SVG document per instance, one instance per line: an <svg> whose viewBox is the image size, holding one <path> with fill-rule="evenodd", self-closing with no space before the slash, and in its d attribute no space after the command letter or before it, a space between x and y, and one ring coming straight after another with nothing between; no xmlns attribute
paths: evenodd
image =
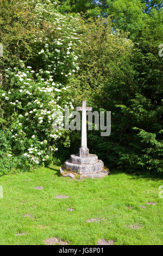
<svg viewBox="0 0 163 256"><path fill-rule="evenodd" d="M86 136L86 111L92 111L92 107L86 107L86 100L82 101L82 107L77 107L77 111L82 111L82 143L79 149L79 156L88 156L89 149L87 148Z"/></svg>

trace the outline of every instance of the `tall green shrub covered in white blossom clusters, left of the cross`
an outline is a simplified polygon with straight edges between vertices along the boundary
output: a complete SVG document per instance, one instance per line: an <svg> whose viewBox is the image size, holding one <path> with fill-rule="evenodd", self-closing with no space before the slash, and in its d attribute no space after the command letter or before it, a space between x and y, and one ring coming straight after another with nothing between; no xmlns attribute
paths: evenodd
<svg viewBox="0 0 163 256"><path fill-rule="evenodd" d="M36 2L34 25L40 30L39 38L36 34L31 42L33 58L20 59L19 66L4 70L4 86L0 87L2 123L5 123L0 156L15 161L15 168L51 164L59 146L70 144L64 127L53 130L52 124L54 120L61 123L61 117L56 113L64 113L65 105L73 109L67 84L79 70L75 52L80 42L79 19L59 14L56 3L51 1ZM7 147L4 147L5 143ZM0 173L5 173L2 169Z"/></svg>

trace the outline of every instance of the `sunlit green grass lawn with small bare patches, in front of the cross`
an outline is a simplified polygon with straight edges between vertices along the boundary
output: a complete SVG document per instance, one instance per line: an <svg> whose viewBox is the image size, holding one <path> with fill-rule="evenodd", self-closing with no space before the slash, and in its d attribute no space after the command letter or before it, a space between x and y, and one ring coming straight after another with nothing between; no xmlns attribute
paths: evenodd
<svg viewBox="0 0 163 256"><path fill-rule="evenodd" d="M115 245L162 245L161 179L112 173L101 180L72 180L58 170L40 168L0 178L0 245L43 245L51 237L70 245L96 245L99 239L115 240ZM70 198L56 199L58 195ZM91 218L101 222L88 223ZM135 225L137 229L130 228Z"/></svg>

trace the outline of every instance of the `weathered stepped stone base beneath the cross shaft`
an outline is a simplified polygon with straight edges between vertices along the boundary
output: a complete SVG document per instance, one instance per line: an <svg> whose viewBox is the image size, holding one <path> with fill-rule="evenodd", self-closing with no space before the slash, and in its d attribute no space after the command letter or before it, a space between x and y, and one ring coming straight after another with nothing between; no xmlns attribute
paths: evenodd
<svg viewBox="0 0 163 256"><path fill-rule="evenodd" d="M71 155L71 160L65 162L65 167L60 168L62 176L71 178L102 178L109 174L108 169L104 169L104 163L98 160L96 155L80 156Z"/></svg>

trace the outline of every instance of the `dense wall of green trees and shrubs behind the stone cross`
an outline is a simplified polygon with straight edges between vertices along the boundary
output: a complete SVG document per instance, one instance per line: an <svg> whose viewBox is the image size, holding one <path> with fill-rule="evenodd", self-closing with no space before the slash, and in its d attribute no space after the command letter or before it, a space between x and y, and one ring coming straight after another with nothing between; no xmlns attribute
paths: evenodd
<svg viewBox="0 0 163 256"><path fill-rule="evenodd" d="M42 108L63 111L66 104L73 109L82 99L94 110L111 111L109 137L89 132L91 152L110 169L163 172L162 1L1 0L0 4L0 43L4 46L0 57L0 174L17 166L26 169L38 162L64 161L78 150L80 134L63 130L60 135L53 134L58 136L54 139L48 118L43 119L42 127L34 122L33 130L24 131L36 118L24 117L33 111L24 102L27 91L32 104L42 100L43 105L35 107L39 117ZM30 74L27 66L35 73ZM27 78L20 81L22 74ZM26 81L29 78L30 84ZM22 86L27 94L20 94ZM55 92L49 93L49 88ZM45 94L40 90L46 90ZM9 92L12 97L5 100ZM15 100L21 107L10 105ZM11 123L12 130L17 123L22 125L15 131L20 135L17 141L12 138ZM40 148L43 141L44 148ZM29 148L33 149L31 157L27 156ZM54 150L49 154L51 148Z"/></svg>

